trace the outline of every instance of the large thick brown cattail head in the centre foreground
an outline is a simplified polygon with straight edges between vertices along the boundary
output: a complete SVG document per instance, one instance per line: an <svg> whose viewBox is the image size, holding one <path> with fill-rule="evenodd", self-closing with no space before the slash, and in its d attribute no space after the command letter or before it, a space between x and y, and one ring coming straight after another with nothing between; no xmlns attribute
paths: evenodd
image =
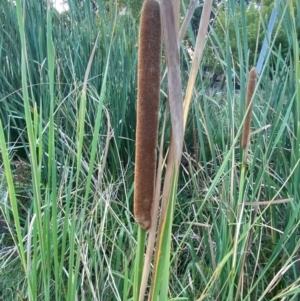
<svg viewBox="0 0 300 301"><path fill-rule="evenodd" d="M151 208L154 197L160 61L160 7L155 0L145 0L139 35L134 183L134 216L145 230L148 230L151 225Z"/></svg>

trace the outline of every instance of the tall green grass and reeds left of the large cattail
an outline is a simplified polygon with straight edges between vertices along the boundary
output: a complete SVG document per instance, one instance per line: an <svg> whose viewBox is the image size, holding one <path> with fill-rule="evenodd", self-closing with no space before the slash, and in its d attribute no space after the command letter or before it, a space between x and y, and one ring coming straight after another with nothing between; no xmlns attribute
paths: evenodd
<svg viewBox="0 0 300 301"><path fill-rule="evenodd" d="M2 35L5 94L0 103L9 197L1 203L5 218L12 220L13 215L9 237L14 241L5 234L1 294L6 300L18 295L30 300L103 300L101 294L115 300L112 292L123 298L118 292L132 276L115 275L109 268L115 257L107 252L122 250L124 229L130 236L135 233L131 186L127 187L132 181L127 179L134 150L136 71L124 72L136 61L135 41L127 40L127 34L136 32L135 24L123 16L116 25L115 6L107 8L110 15L100 6L96 15L89 5L70 3L73 9L58 15L42 2L1 5L2 15L10 20ZM19 34L11 36L15 31ZM20 54L18 48L11 49L17 43ZM37 51L38 45L46 48ZM112 115L113 110L117 114ZM20 184L13 181L22 170L10 171L9 161L30 163L31 187L23 195L18 195ZM127 168L129 173L122 174ZM106 228L116 240L110 240ZM123 255L117 257L121 269ZM105 292L109 279L112 284Z"/></svg>

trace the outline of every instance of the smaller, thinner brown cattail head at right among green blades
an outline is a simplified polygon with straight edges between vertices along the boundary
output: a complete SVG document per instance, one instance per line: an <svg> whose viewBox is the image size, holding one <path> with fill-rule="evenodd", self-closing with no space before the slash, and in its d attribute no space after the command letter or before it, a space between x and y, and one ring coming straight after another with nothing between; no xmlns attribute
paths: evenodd
<svg viewBox="0 0 300 301"><path fill-rule="evenodd" d="M251 125L252 106L253 106L251 103L251 99L256 86L256 76L257 76L256 68L253 67L249 73L248 87L247 87L246 111L248 110L249 106L250 108L248 110L244 122L244 129L243 129L243 136L242 136L243 149L245 149L248 146L249 139L250 139L250 125Z"/></svg>

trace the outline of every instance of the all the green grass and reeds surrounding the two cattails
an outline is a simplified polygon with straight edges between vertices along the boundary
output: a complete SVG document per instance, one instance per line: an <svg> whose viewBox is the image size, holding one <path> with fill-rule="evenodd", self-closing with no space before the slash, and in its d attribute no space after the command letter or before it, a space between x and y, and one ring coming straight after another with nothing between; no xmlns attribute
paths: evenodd
<svg viewBox="0 0 300 301"><path fill-rule="evenodd" d="M89 1L70 1L70 12L59 15L42 1L0 4L0 220L9 228L0 233L1 300L133 300L138 26L119 7L98 5L95 13ZM228 5L233 13L239 4ZM228 35L226 48L215 48L227 79L223 93L206 93L209 80L196 77L178 187L173 180L163 226L172 231L169 252L156 274L164 273L161 290L170 300L300 294L299 16L291 5L279 15L289 35L287 57L270 41L253 98L245 173L246 18L235 24L238 61ZM213 29L209 37L205 47L220 45ZM191 62L180 51L185 93ZM166 79L161 89L168 94ZM161 121L165 109L162 101ZM161 122L163 155L170 119L166 129Z"/></svg>

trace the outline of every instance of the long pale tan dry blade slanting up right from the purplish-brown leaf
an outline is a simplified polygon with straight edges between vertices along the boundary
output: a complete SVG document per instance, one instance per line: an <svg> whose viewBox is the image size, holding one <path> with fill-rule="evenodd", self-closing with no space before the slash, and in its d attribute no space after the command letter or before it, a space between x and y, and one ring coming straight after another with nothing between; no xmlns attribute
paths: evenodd
<svg viewBox="0 0 300 301"><path fill-rule="evenodd" d="M204 2L204 6L202 10L201 20L200 20L200 25L199 25L198 35L197 35L197 41L195 46L193 64L192 64L190 77L186 89L185 99L184 99L184 113L183 113L184 128L186 126L193 89L198 74L200 62L203 56L203 50L204 50L205 40L206 40L205 37L207 34L211 9L212 9L212 0L206 0Z"/></svg>

